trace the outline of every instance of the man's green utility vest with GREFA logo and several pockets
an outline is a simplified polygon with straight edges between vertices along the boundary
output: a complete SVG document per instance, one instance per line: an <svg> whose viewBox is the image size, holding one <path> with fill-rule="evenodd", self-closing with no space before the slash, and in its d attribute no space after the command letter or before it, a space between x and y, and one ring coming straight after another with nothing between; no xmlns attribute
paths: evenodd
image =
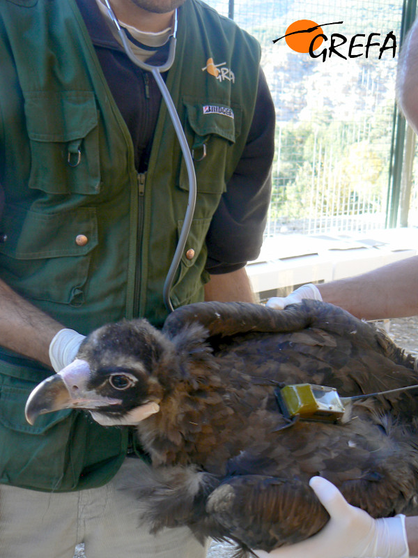
<svg viewBox="0 0 418 558"><path fill-rule="evenodd" d="M167 86L195 153L198 194L175 307L203 299L206 232L245 146L258 62L256 41L215 10L199 0L180 8ZM0 277L80 333L123 317L160 326L189 188L164 103L147 176L138 176L75 0L2 0L0 64ZM123 461L127 429L71 410L30 426L26 398L50 374L1 349L0 482L54 491L102 485Z"/></svg>

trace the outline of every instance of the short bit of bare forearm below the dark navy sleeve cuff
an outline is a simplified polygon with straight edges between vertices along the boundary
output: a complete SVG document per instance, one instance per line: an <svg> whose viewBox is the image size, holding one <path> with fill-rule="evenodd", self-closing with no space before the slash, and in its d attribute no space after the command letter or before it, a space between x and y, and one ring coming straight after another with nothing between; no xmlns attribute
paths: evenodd
<svg viewBox="0 0 418 558"><path fill-rule="evenodd" d="M256 296L245 267L232 273L210 276L205 285L205 300L219 302L255 302Z"/></svg>

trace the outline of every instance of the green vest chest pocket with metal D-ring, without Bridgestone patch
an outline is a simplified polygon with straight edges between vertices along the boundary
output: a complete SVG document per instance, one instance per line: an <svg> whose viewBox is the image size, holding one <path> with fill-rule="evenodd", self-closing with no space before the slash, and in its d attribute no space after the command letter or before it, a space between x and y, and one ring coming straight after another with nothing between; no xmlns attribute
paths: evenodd
<svg viewBox="0 0 418 558"><path fill-rule="evenodd" d="M98 111L91 91L24 93L31 146L29 188L49 194L100 191Z"/></svg>

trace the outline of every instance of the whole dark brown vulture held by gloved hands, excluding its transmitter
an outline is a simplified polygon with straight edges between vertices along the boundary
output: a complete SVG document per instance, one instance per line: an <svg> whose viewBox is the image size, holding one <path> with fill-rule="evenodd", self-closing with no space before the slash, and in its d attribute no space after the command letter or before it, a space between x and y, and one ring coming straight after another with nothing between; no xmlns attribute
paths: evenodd
<svg viewBox="0 0 418 558"><path fill-rule="evenodd" d="M153 462L137 490L154 530L189 525L242 555L300 541L327 522L308 486L317 474L374 517L418 512L418 391L350 403L335 424L288 425L277 405L284 384L350 396L417 383L412 356L340 308L198 303L161 332L141 319L103 326L77 359L77 374L40 384L27 416L81 407L118 424L157 402L136 427Z"/></svg>

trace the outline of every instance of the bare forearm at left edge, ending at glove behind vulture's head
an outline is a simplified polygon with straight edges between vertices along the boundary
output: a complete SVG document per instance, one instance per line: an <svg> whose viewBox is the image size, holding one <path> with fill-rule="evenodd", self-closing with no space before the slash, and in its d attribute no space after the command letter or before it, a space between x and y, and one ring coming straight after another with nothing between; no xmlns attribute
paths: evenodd
<svg viewBox="0 0 418 558"><path fill-rule="evenodd" d="M0 280L1 345L48 366L49 343L63 326Z"/></svg>

